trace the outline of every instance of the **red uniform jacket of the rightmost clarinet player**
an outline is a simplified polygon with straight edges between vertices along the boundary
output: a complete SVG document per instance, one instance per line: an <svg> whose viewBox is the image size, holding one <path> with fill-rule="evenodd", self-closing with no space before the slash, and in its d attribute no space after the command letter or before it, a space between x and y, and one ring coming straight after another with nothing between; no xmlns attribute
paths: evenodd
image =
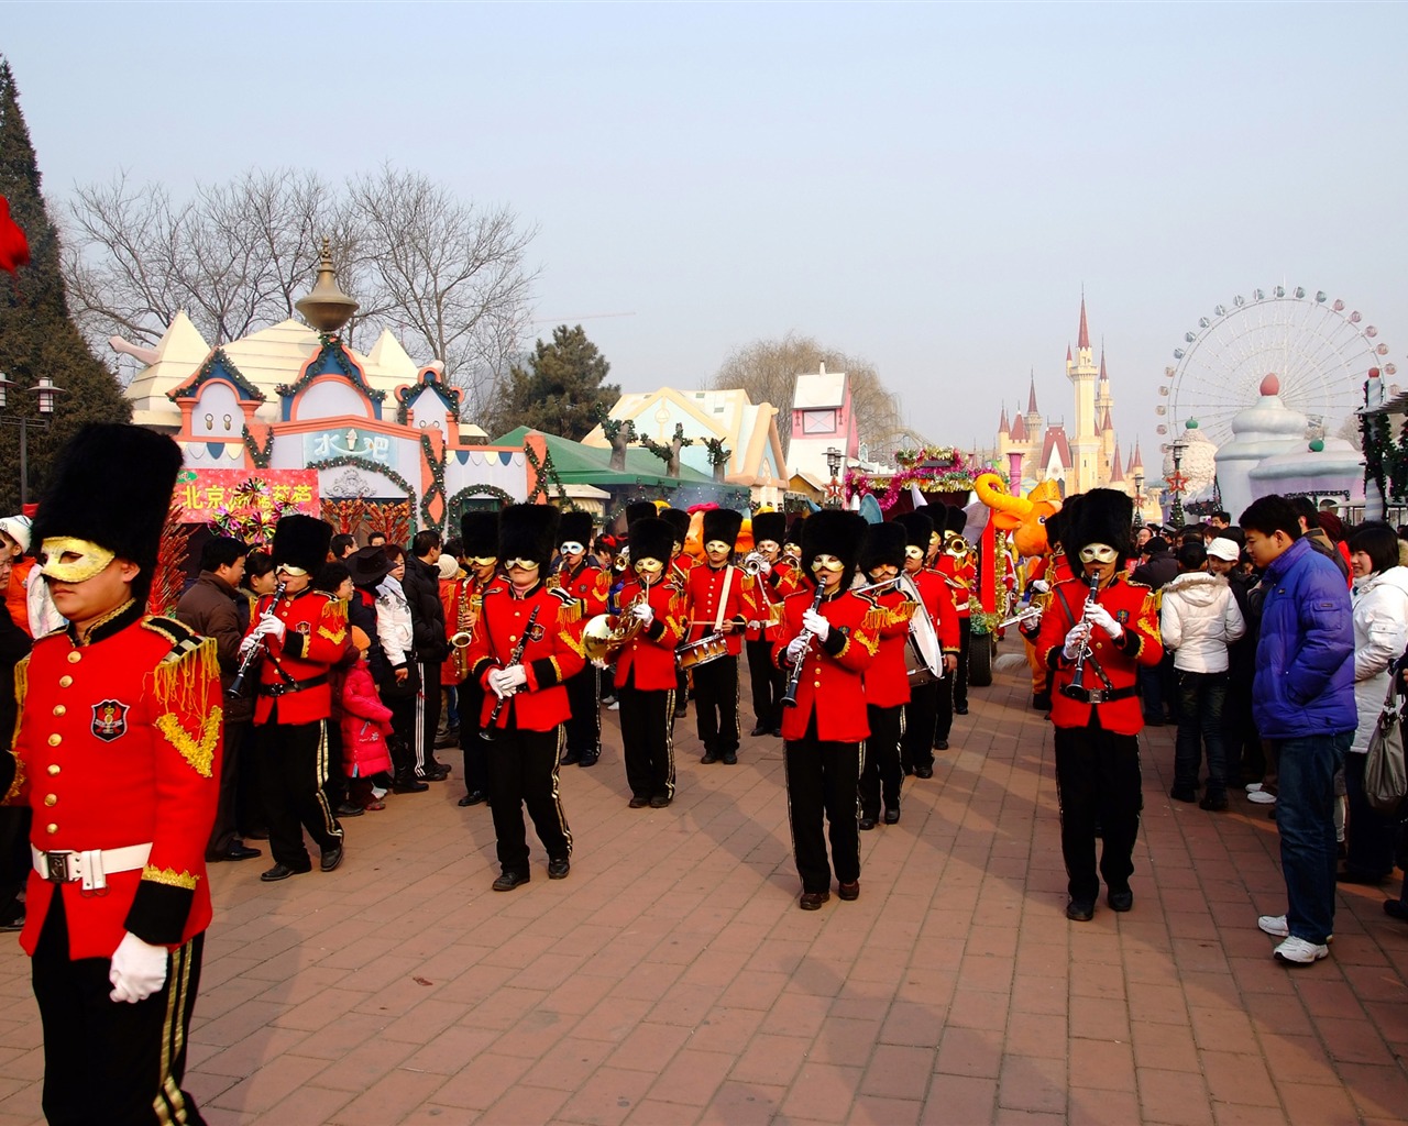
<svg viewBox="0 0 1408 1126"><path fill-rule="evenodd" d="M1074 676L1074 662L1066 660L1063 653L1066 633L1084 614L1088 593L1087 583L1067 578L1052 590L1050 605L1042 618L1036 653L1053 670L1052 723L1057 728L1084 728L1090 725L1091 711L1098 708L1101 728L1117 735L1138 735L1143 729L1143 712L1139 707L1135 669L1139 664L1157 664L1163 657L1153 591L1142 583L1131 583L1117 574L1114 581L1095 595L1095 601L1125 628L1118 642L1105 636L1105 631L1100 626L1090 632L1090 659L1084 669L1086 687L1112 688L1122 694L1119 700L1104 704L1084 704L1062 692ZM1097 663L1104 670L1108 684L1095 671Z"/></svg>

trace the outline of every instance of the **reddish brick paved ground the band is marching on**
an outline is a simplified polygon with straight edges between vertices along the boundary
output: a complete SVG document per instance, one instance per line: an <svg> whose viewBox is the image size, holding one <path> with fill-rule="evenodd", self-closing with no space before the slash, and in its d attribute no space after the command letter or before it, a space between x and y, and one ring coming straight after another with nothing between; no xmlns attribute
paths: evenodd
<svg viewBox="0 0 1408 1126"><path fill-rule="evenodd" d="M536 852L491 894L489 815L455 781L349 822L332 875L218 866L187 1087L213 1126L1402 1120L1408 928L1383 895L1342 894L1328 961L1273 963L1274 825L1170 802L1162 729L1135 909L1066 922L1050 732L1024 702L1012 674L974 690L900 825L862 835L860 899L815 913L779 743L704 767L693 716L674 806L631 811L607 714L601 764L563 770L562 883ZM31 1123L17 949L0 991L0 1126Z"/></svg>

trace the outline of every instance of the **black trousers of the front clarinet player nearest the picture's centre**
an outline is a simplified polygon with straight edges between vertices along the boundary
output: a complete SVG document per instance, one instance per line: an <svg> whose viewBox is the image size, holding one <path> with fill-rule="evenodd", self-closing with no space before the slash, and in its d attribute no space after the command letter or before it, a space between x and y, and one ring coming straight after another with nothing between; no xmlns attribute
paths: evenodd
<svg viewBox="0 0 1408 1126"><path fill-rule="evenodd" d="M860 878L860 829L856 825L860 743L821 742L812 712L807 733L784 746L787 814L801 890L831 891L832 867L838 883L853 884ZM829 864L826 836L831 837Z"/></svg>

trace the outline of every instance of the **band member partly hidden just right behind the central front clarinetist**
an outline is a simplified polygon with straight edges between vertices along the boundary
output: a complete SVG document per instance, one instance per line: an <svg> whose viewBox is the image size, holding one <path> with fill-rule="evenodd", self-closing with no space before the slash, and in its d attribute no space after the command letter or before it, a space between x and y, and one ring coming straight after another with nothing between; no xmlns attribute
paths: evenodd
<svg viewBox="0 0 1408 1126"><path fill-rule="evenodd" d="M872 524L860 548L860 570L872 583L888 583L904 570L904 528L898 524ZM910 618L922 612L898 587L870 595L874 609L866 625L876 631L880 646L865 671L866 739L860 767L860 828L874 829L880 821L884 797L884 823L900 821L900 733L904 730L904 705L910 702L910 673L904 663ZM883 792L881 792L883 791Z"/></svg>

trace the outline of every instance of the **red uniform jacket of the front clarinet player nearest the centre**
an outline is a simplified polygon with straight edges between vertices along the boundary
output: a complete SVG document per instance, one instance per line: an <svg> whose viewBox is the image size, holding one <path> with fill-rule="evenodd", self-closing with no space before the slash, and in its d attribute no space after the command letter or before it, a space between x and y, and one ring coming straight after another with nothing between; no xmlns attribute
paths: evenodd
<svg viewBox="0 0 1408 1126"><path fill-rule="evenodd" d="M798 593L783 602L783 621L773 646L773 662L787 669L787 643L801 633L801 615L815 593ZM870 735L866 718L865 671L880 647L879 631L866 625L876 604L860 594L841 591L821 602L819 614L831 624L825 643L812 640L803 657L797 681L797 707L783 708L783 739L807 735L812 714L817 738L828 743L859 743Z"/></svg>

